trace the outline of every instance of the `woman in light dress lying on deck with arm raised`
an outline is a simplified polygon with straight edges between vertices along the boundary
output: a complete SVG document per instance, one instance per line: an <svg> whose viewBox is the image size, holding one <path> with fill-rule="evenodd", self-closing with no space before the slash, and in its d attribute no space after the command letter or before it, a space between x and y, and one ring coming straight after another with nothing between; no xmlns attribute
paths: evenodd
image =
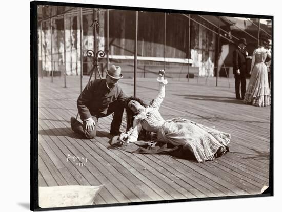
<svg viewBox="0 0 282 212"><path fill-rule="evenodd" d="M198 162L213 160L229 151L230 134L203 126L183 118L164 120L159 113L160 104L165 97L164 70L159 71L157 81L159 91L152 103L146 105L142 100L130 97L126 102L128 117L127 133L122 133L119 140L122 143L135 143L148 138L151 133L157 135L158 142L182 146L187 152L193 153ZM138 138L139 137L139 138Z"/></svg>

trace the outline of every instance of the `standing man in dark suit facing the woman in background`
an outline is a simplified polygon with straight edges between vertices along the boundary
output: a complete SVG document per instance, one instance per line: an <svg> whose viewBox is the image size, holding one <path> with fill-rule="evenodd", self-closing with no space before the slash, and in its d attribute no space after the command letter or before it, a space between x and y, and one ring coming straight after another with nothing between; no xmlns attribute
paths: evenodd
<svg viewBox="0 0 282 212"><path fill-rule="evenodd" d="M235 77L236 99L243 99L246 93L246 74L247 74L247 57L248 52L245 51L247 45L246 39L241 38L239 45L233 52L233 74ZM241 96L240 96L241 84Z"/></svg>

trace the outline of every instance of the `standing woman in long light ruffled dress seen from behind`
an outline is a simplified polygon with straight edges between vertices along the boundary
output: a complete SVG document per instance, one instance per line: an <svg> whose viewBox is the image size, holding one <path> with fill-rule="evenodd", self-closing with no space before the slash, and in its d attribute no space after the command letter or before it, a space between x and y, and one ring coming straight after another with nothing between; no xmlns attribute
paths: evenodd
<svg viewBox="0 0 282 212"><path fill-rule="evenodd" d="M253 52L251 78L243 102L258 107L266 107L270 105L270 88L265 60L267 57L271 58L271 53L265 48L266 40L260 40L259 47Z"/></svg>

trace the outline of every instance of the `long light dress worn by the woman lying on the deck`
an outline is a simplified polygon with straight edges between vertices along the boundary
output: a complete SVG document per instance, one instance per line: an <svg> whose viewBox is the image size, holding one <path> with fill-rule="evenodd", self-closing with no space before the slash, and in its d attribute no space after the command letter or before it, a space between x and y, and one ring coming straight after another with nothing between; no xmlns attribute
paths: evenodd
<svg viewBox="0 0 282 212"><path fill-rule="evenodd" d="M230 134L208 128L183 118L164 120L159 113L165 97L167 80L158 78L159 92L153 103L145 111L135 116L133 129L128 132L129 142L135 142L142 128L157 134L157 139L173 145L183 145L193 152L198 162L213 160L217 151L230 142Z"/></svg>

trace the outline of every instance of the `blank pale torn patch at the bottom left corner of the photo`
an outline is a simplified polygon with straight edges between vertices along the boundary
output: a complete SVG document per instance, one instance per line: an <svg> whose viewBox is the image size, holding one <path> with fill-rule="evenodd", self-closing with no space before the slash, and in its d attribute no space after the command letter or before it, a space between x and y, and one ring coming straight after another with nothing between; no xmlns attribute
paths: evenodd
<svg viewBox="0 0 282 212"><path fill-rule="evenodd" d="M39 207L92 205L100 186L66 185L39 187Z"/></svg>

